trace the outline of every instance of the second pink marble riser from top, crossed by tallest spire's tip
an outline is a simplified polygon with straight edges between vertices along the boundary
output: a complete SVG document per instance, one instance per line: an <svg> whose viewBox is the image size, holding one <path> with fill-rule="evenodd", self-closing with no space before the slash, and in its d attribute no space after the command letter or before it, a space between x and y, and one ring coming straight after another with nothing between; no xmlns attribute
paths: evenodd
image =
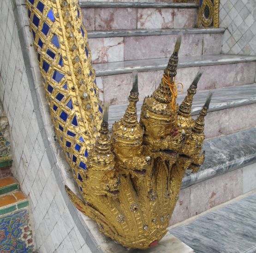
<svg viewBox="0 0 256 253"><path fill-rule="evenodd" d="M170 57L177 35L91 38L93 63ZM179 56L219 54L222 34L186 34Z"/></svg>

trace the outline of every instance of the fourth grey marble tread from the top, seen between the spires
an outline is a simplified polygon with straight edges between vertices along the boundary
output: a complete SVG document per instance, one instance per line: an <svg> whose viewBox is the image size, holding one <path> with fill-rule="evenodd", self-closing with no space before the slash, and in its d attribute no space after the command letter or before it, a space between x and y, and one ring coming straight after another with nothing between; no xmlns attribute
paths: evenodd
<svg viewBox="0 0 256 253"><path fill-rule="evenodd" d="M209 112L256 103L256 83L218 88L212 91L214 93L208 110ZM203 90L196 93L193 99L192 115L197 115L202 109L202 105L207 98L208 92L208 90ZM177 103L180 104L185 96L186 93L178 94ZM143 101L137 103L138 119L142 103ZM118 121L124 115L127 105L128 103L110 105L108 121L110 129L112 128L114 121Z"/></svg>

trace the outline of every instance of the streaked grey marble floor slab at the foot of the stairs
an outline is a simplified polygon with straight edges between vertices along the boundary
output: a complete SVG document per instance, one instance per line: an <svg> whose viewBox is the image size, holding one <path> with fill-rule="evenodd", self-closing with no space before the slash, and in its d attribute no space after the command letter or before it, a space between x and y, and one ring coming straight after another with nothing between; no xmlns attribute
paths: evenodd
<svg viewBox="0 0 256 253"><path fill-rule="evenodd" d="M169 231L196 253L255 253L256 193Z"/></svg>

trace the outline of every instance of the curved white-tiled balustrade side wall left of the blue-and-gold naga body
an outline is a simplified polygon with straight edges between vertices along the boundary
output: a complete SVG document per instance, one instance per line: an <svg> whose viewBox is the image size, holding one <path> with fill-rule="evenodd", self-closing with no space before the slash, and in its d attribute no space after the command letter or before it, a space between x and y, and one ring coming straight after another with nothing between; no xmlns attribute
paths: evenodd
<svg viewBox="0 0 256 253"><path fill-rule="evenodd" d="M0 1L0 101L10 124L12 173L30 198L36 248L40 253L99 252L65 193L69 167L54 146L39 72L31 64L34 48L26 46L20 11L18 1Z"/></svg>

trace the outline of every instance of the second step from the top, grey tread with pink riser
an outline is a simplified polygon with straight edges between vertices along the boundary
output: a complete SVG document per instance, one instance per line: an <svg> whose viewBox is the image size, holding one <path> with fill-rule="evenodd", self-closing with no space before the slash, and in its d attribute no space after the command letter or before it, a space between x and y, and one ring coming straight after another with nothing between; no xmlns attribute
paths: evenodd
<svg viewBox="0 0 256 253"><path fill-rule="evenodd" d="M179 56L220 54L225 29L137 29L88 33L93 63L168 57L183 33Z"/></svg>

